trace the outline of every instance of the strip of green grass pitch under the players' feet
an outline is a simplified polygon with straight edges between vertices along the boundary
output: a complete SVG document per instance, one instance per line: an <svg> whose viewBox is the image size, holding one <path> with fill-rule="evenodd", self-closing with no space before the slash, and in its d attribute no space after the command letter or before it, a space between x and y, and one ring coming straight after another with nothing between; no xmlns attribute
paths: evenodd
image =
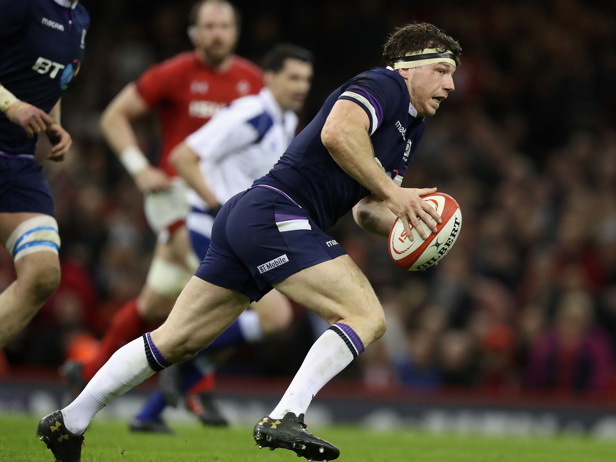
<svg viewBox="0 0 616 462"><path fill-rule="evenodd" d="M0 461L52 462L34 437L37 418L0 416ZM84 462L281 462L294 453L257 449L250 428L176 425L175 435L130 434L123 422L95 421L86 434ZM585 437L483 437L423 432L318 429L334 442L341 462L599 462L614 461L616 442ZM305 459L301 459L305 461Z"/></svg>

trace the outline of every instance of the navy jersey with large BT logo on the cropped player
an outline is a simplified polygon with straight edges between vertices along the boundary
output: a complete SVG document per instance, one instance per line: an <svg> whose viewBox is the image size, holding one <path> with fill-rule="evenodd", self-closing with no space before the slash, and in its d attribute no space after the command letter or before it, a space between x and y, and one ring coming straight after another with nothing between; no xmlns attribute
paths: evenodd
<svg viewBox="0 0 616 462"><path fill-rule="evenodd" d="M69 0L0 0L0 83L49 113L78 73L90 17ZM0 112L0 152L33 154L36 136Z"/></svg>

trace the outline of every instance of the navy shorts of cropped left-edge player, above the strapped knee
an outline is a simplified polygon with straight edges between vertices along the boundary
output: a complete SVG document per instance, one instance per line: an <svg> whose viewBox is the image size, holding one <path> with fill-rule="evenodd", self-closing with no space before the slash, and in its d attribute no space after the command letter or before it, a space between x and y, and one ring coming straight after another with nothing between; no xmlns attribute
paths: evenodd
<svg viewBox="0 0 616 462"><path fill-rule="evenodd" d="M43 166L32 156L0 153L0 213L33 212L55 216L54 198Z"/></svg>

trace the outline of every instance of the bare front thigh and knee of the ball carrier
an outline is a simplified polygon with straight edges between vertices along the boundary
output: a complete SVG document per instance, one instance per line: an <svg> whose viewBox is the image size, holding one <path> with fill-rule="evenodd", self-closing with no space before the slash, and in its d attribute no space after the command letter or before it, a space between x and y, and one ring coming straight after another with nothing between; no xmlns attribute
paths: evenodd
<svg viewBox="0 0 616 462"><path fill-rule="evenodd" d="M274 286L330 324L354 318L360 337L364 330L370 336L370 323L383 317L370 282L348 255L303 269Z"/></svg>

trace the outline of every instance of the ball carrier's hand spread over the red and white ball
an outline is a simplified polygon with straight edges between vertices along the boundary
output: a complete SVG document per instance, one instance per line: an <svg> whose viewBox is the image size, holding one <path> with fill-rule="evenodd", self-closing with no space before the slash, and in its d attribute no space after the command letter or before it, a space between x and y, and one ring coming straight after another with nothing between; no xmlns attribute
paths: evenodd
<svg viewBox="0 0 616 462"><path fill-rule="evenodd" d="M442 222L437 211L421 198L432 193L436 193L436 188L395 188L395 193L389 200L385 200L387 207L402 221L407 237L411 241L413 240L413 233L411 233L409 222L423 240L426 240L428 236L424 232L423 226L419 224L419 220L427 224L433 233L437 232L434 222Z"/></svg>

